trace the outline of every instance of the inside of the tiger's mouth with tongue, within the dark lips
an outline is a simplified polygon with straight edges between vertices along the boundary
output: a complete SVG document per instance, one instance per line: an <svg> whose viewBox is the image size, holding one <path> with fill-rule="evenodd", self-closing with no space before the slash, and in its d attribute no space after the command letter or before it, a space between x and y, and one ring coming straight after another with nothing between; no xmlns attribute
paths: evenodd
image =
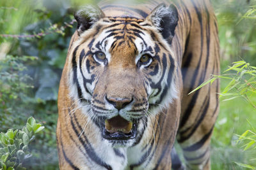
<svg viewBox="0 0 256 170"><path fill-rule="evenodd" d="M125 120L120 116L105 120L105 128L110 133L123 132L125 134L131 132L132 122Z"/></svg>

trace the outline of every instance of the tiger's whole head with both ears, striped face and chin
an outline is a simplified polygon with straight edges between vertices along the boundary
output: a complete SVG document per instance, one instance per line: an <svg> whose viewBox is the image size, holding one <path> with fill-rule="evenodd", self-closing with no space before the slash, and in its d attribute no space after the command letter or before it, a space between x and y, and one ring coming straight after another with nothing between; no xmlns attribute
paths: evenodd
<svg viewBox="0 0 256 170"><path fill-rule="evenodd" d="M175 6L161 4L145 19L106 17L98 8L75 15L79 39L70 53L70 96L112 146L140 141L148 117L176 96Z"/></svg>

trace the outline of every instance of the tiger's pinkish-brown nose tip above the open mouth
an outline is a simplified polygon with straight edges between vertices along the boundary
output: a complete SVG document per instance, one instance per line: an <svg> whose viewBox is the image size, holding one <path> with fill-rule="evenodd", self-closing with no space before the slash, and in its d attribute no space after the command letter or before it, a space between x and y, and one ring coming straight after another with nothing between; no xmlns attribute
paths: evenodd
<svg viewBox="0 0 256 170"><path fill-rule="evenodd" d="M110 104L113 104L113 106L116 109L121 110L128 104L132 103L133 99L132 99L132 97L131 98L117 98L117 97L106 96L106 101L108 101L108 103L110 103Z"/></svg>

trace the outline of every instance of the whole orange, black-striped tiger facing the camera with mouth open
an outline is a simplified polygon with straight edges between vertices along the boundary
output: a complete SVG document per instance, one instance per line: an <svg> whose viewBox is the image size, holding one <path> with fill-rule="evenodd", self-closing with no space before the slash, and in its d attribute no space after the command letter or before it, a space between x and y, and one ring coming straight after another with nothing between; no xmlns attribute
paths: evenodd
<svg viewBox="0 0 256 170"><path fill-rule="evenodd" d="M102 1L74 17L58 93L60 169L211 169L220 82L188 95L220 73L210 0Z"/></svg>

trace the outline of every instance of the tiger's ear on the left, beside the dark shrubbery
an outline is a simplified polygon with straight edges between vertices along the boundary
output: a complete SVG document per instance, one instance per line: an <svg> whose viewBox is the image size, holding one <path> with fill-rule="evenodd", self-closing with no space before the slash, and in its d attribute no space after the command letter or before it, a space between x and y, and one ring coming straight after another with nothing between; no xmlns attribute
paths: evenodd
<svg viewBox="0 0 256 170"><path fill-rule="evenodd" d="M74 17L77 21L77 33L80 36L84 31L90 29L100 18L105 17L105 14L98 6L86 6L82 10L77 11Z"/></svg>

